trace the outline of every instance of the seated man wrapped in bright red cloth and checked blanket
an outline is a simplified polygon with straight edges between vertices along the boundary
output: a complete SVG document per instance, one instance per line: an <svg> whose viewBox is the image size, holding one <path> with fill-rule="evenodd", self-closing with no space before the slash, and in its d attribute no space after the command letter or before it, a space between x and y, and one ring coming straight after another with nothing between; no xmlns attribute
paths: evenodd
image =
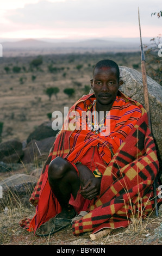
<svg viewBox="0 0 162 256"><path fill-rule="evenodd" d="M127 227L133 216L153 210L155 145L145 109L119 91L121 83L115 62L95 65L94 94L71 107L30 198L37 207L29 231L53 234L71 220L74 235Z"/></svg>

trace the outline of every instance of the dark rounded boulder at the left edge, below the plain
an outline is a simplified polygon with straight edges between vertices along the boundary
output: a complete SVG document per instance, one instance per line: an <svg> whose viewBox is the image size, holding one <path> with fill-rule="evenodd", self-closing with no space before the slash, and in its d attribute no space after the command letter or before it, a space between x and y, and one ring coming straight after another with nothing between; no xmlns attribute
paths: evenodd
<svg viewBox="0 0 162 256"><path fill-rule="evenodd" d="M4 163L17 163L22 156L22 143L17 141L17 139L10 139L0 144L0 161Z"/></svg>

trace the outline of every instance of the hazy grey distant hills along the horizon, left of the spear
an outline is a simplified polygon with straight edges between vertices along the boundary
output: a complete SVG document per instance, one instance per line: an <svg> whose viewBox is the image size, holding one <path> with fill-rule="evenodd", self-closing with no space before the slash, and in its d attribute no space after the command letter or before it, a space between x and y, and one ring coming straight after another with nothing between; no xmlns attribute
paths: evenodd
<svg viewBox="0 0 162 256"><path fill-rule="evenodd" d="M1 40L0 40L1 42ZM123 39L90 39L83 41L46 41L36 39L25 39L18 41L4 41L4 56L52 54L71 52L135 52L140 51L139 40Z"/></svg>

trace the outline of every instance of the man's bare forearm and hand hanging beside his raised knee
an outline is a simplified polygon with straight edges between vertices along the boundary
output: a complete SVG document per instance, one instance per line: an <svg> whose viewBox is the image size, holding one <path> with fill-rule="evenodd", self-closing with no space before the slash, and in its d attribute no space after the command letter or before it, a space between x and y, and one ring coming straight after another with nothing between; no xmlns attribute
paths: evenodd
<svg viewBox="0 0 162 256"><path fill-rule="evenodd" d="M100 191L101 178L95 178L91 170L83 164L77 164L80 179L80 194L86 199L94 199Z"/></svg>

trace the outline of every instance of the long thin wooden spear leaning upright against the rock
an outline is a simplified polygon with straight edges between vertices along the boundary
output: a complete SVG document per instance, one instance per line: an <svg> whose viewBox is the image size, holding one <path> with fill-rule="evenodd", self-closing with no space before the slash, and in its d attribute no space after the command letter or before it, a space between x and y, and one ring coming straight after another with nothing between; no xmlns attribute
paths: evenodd
<svg viewBox="0 0 162 256"><path fill-rule="evenodd" d="M138 18L139 18L139 29L140 29L140 42L141 42L141 72L142 72L142 82L143 82L143 90L144 90L144 101L145 108L148 116L148 127L151 131L151 115L149 111L149 98L148 98L148 88L147 88L147 76L146 76L146 60L145 53L142 44L142 36L141 36L141 23L140 23L140 10L138 8ZM154 203L155 203L155 214L158 216L158 205L157 205L157 188L156 188L157 178L155 178L153 182L153 193L154 193Z"/></svg>

